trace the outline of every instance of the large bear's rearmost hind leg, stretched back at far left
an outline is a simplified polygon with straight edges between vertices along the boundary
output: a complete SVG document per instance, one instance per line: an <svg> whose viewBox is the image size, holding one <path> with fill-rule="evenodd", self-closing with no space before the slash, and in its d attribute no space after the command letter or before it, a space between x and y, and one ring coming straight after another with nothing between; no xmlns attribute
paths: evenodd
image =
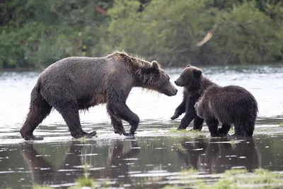
<svg viewBox="0 0 283 189"><path fill-rule="evenodd" d="M44 120L47 115L50 114L52 107L44 100L41 101L32 101L30 104L30 110L28 112L27 118L21 127L21 136L25 140L42 140L43 137L35 137L33 131L40 125L42 120Z"/></svg>

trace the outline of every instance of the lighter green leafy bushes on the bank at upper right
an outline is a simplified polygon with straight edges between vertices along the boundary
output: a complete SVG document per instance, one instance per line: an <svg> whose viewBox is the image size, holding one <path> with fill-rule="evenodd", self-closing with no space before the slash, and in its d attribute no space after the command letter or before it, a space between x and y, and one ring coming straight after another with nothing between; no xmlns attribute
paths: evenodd
<svg viewBox="0 0 283 189"><path fill-rule="evenodd" d="M129 8L127 15L117 11L127 7L122 2L115 1L109 12L110 33L116 31L113 43L118 49L156 57L164 64L245 64L282 59L282 23L260 11L255 1L229 1L223 9L207 0L153 0L142 13ZM276 13L281 16L282 6L278 7ZM212 28L216 28L212 38L197 47Z"/></svg>

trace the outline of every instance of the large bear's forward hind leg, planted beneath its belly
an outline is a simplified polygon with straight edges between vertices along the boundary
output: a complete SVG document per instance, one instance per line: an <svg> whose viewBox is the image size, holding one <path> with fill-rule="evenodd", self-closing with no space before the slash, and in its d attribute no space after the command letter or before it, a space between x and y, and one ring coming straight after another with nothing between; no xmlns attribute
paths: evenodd
<svg viewBox="0 0 283 189"><path fill-rule="evenodd" d="M79 106L76 105L76 103L69 102L69 103L58 103L58 104L54 104L54 108L64 118L67 126L69 127L72 137L74 137L75 139L81 137L91 138L96 135L96 131L87 133L82 130L81 122L79 118Z"/></svg>

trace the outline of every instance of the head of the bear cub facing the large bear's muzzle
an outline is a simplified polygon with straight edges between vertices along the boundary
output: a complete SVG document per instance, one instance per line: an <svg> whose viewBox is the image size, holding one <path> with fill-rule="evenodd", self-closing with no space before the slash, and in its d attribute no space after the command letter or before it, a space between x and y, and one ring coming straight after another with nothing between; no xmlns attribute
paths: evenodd
<svg viewBox="0 0 283 189"><path fill-rule="evenodd" d="M187 88L195 88L200 85L202 79L202 70L192 67L190 64L183 69L182 73L175 80L177 86L187 86Z"/></svg>

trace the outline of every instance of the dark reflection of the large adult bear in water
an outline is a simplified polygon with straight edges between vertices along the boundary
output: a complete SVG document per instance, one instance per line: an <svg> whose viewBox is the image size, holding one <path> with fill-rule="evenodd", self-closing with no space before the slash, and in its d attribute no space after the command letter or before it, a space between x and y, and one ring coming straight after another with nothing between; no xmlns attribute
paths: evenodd
<svg viewBox="0 0 283 189"><path fill-rule="evenodd" d="M89 176L95 179L109 178L110 181L118 180L112 184L113 187L119 187L124 183L132 185L128 174L129 165L139 156L140 149L136 141L114 141L114 146L108 149L110 153L108 161L105 163L107 164L105 168L99 170L90 168L88 171ZM129 151L125 151L125 144L128 142L131 144L131 148ZM54 164L47 161L44 156L37 152L33 144L23 144L21 146L21 154L32 173L33 185L62 185L64 183L74 183L77 178L84 174L82 161L86 159L86 156L82 155L83 147L86 147L86 145L81 144L81 142L71 142L62 166L55 168ZM91 159L95 161L96 158L91 157ZM103 165L99 167L103 167ZM61 188L69 188L69 186L62 186Z"/></svg>

